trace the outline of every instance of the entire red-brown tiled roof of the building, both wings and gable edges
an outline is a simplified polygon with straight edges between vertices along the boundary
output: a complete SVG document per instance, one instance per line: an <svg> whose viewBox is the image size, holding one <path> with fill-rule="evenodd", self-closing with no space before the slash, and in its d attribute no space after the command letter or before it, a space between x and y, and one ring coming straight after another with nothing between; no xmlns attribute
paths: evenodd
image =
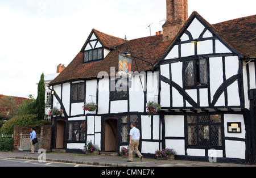
<svg viewBox="0 0 256 178"><path fill-rule="evenodd" d="M237 52L246 57L255 57L255 15L211 25L195 11L184 24L183 28L187 26L189 20L195 14L212 28L224 41L226 41L226 43L237 50ZM180 29L180 32L183 28ZM88 37L81 52L77 54L75 59L62 73L60 73L60 75L49 83L50 85L71 82L73 80L97 78L100 71L106 71L110 75L110 67L115 67L115 71L117 71L118 54L126 52L127 44L125 44L125 40L107 35L96 29L93 29L92 32L96 33L98 39L100 39L105 48L109 48L112 51L102 61L82 63L82 52L89 40ZM135 60L133 60L133 71L153 70L154 65L159 62L159 59L167 52L167 49L171 46L176 37L174 39L166 40L163 35L156 35L128 41L132 56L135 57L137 63L137 65L135 65Z"/></svg>

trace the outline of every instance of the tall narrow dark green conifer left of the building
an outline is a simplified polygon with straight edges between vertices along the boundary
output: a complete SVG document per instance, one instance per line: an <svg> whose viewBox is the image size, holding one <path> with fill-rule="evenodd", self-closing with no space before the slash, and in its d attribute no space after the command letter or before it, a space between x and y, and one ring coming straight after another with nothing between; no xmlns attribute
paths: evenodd
<svg viewBox="0 0 256 178"><path fill-rule="evenodd" d="M41 75L39 84L38 84L38 98L36 98L36 107L38 108L38 119L44 119L45 104L44 100L46 97L46 88L44 86L44 74Z"/></svg>

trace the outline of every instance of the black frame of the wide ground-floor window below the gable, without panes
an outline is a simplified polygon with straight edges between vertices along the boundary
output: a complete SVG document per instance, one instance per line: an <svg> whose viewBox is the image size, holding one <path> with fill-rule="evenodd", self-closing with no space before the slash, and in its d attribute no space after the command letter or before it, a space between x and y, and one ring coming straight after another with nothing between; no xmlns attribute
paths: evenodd
<svg viewBox="0 0 256 178"><path fill-rule="evenodd" d="M210 116L212 115L220 115L220 120L221 122L211 122L210 121ZM195 116L196 117L196 123L188 123L188 116ZM199 117L200 116L208 116L208 122L199 122ZM188 143L188 139L189 139L189 132L188 132L188 126L196 126L196 138L197 138L197 144L196 145L189 145ZM209 126L209 145L205 146L205 145L200 145L199 142L199 126ZM220 139L221 139L221 145L213 145L213 141L212 141L212 126L220 126L221 129L221 134ZM220 113L211 113L211 114L202 114L202 115L193 115L192 113L189 115L185 115L185 145L187 147L187 149L218 149L218 150L223 150L225 147L225 137L224 137L224 115L220 114Z"/></svg>

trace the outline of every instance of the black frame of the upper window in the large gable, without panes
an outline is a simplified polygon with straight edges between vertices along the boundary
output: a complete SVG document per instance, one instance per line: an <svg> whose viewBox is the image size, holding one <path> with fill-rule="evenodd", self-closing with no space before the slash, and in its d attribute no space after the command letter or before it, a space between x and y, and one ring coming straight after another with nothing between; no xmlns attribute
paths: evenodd
<svg viewBox="0 0 256 178"><path fill-rule="evenodd" d="M205 67L206 67L205 74L207 74L207 77L206 77L207 83L200 82L200 60L205 60ZM186 84L185 66L186 66L187 62L191 62L191 61L193 61L194 84L191 86L188 86ZM183 61L183 88L184 89L195 89L195 88L207 88L208 86L209 86L209 59L197 57L197 58L194 58L193 60Z"/></svg>

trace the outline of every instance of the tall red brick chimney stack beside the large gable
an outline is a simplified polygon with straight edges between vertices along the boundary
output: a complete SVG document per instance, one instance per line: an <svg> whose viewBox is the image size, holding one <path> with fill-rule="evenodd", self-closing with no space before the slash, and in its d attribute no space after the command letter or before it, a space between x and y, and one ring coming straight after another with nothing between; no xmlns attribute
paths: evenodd
<svg viewBox="0 0 256 178"><path fill-rule="evenodd" d="M173 39L188 19L188 0L166 0L167 20L163 25L163 36Z"/></svg>

